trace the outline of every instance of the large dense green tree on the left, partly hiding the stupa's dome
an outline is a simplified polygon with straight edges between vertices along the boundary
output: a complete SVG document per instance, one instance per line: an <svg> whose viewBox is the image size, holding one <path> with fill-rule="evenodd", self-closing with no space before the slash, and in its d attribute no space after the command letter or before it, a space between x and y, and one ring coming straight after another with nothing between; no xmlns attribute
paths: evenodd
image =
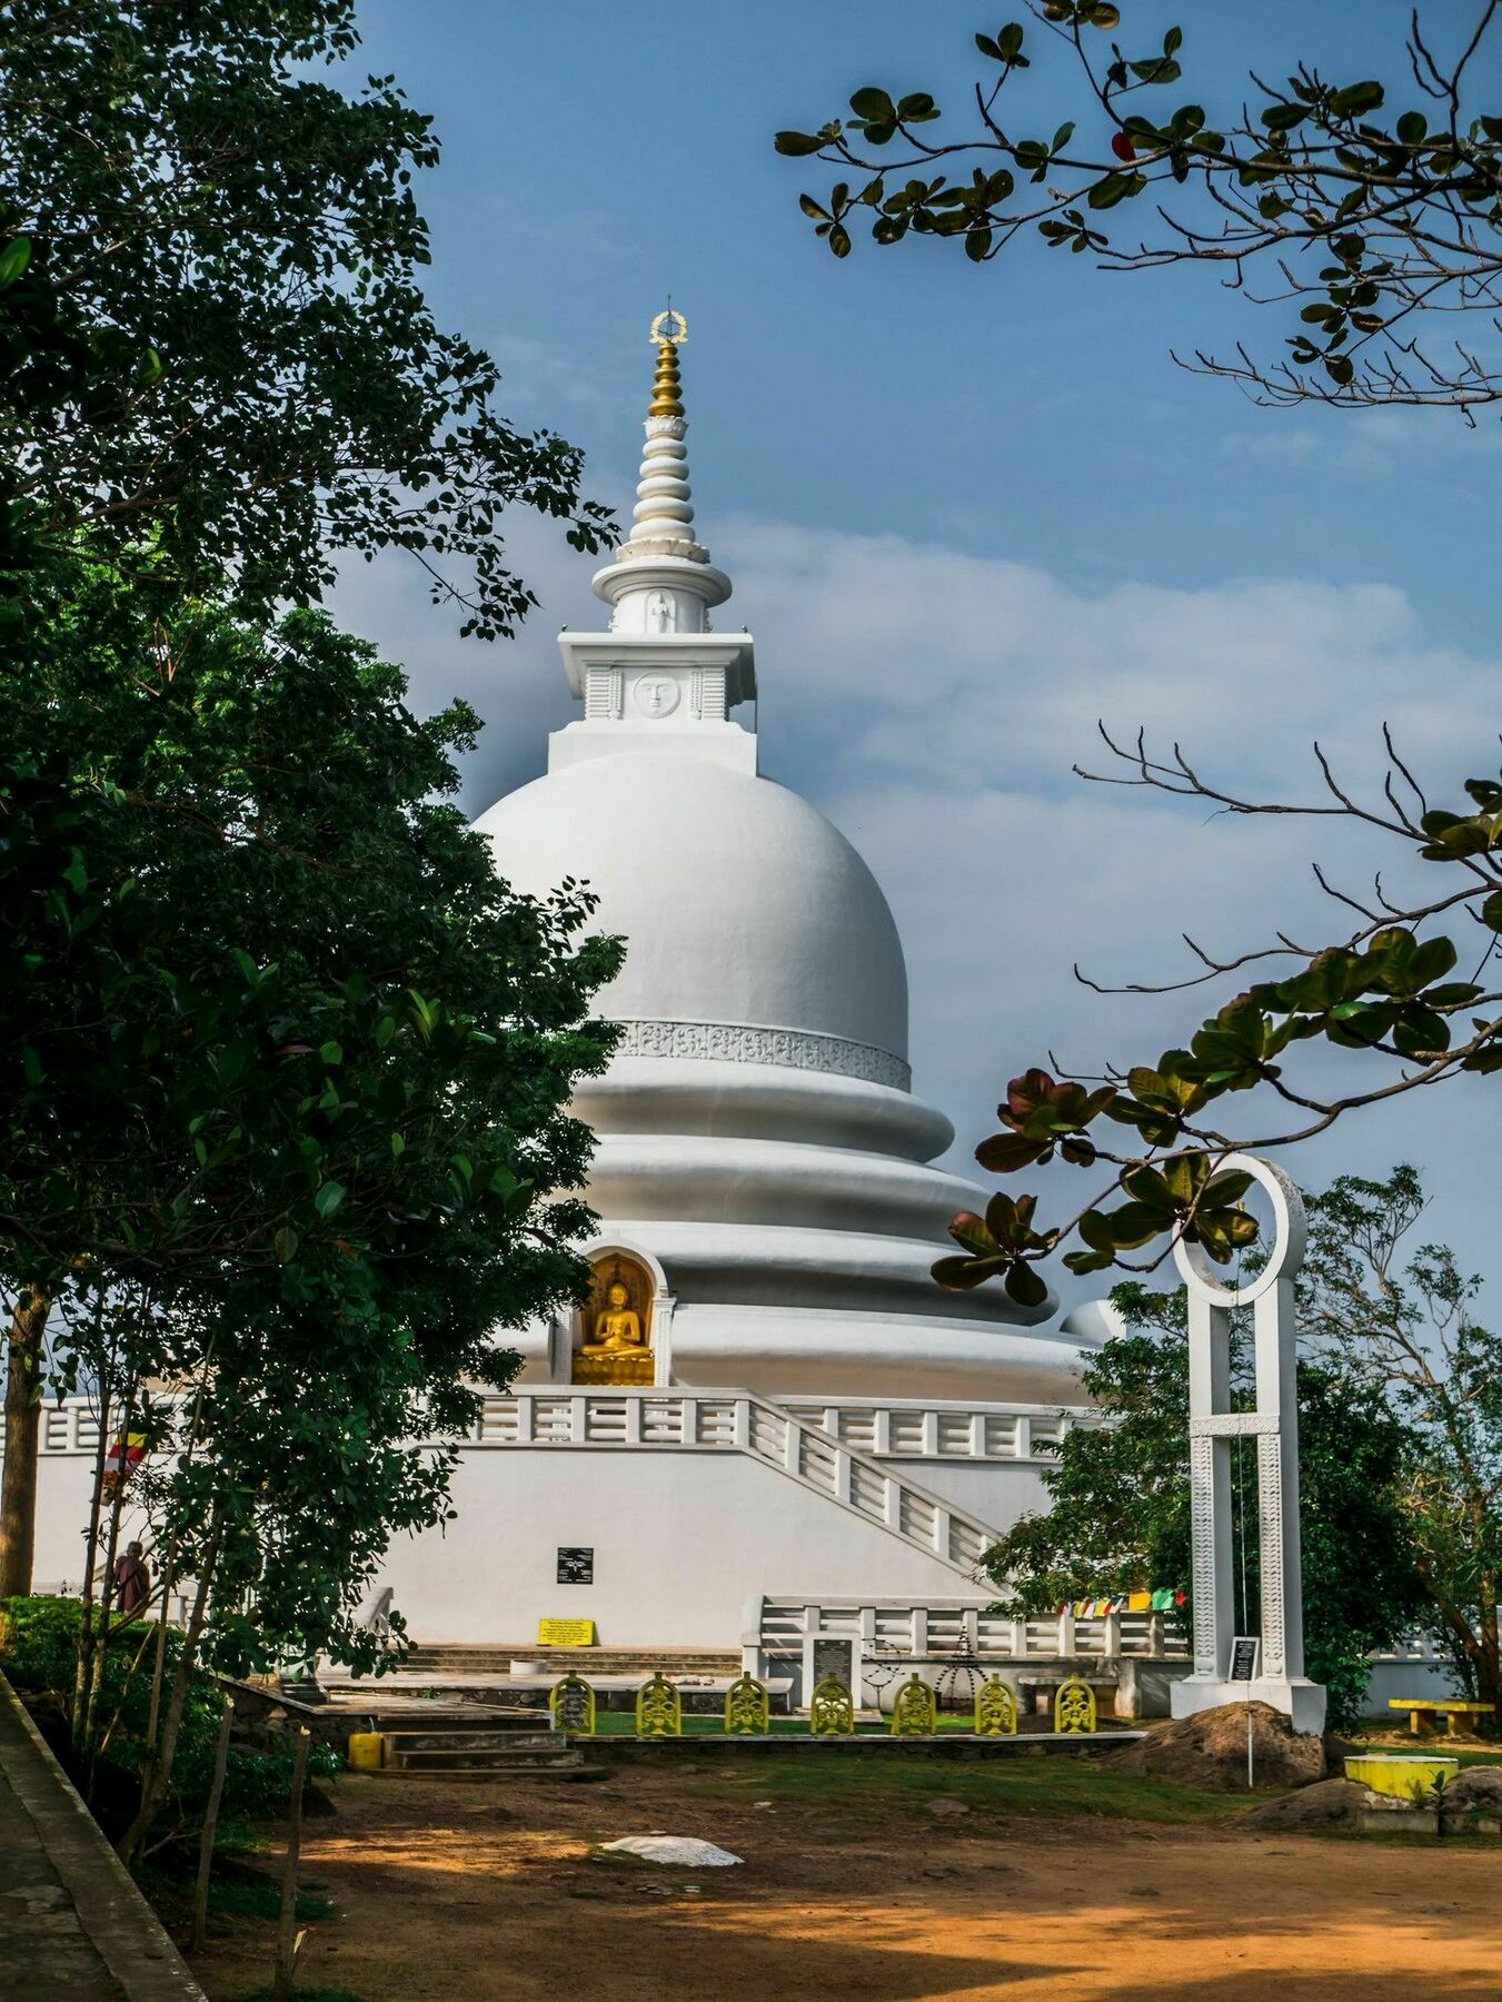
<svg viewBox="0 0 1502 2002"><path fill-rule="evenodd" d="M130 1850L198 1660L372 1660L364 1584L446 1516L506 1329L580 1295L590 1135L566 1105L608 1059L586 1009L620 951L580 937L576 887L512 895L446 803L474 717L418 723L320 613L162 627L76 557L34 583L24 647L0 799L52 833L0 849L0 1267L64 1309L98 1471L116 1429L168 1457L136 1491L192 1600ZM106 1499L86 1578L118 1522Z"/></svg>

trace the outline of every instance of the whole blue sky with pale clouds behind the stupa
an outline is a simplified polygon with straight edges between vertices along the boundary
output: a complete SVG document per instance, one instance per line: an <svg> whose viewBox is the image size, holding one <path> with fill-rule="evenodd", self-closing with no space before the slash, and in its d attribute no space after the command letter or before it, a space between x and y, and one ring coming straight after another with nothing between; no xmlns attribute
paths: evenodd
<svg viewBox="0 0 1502 2002"><path fill-rule="evenodd" d="M1144 48L1176 18L1126 14ZM1300 56L1396 80L1406 14L1184 8L1184 94L1226 116L1248 68ZM1440 32L1452 18L1432 10ZM1180 741L1254 799L1318 797L1314 739L1370 785L1382 721L1436 797L1496 767L1496 420L1254 408L1170 356L1238 336L1274 354L1286 332L1202 270L1104 274L1032 242L984 268L860 240L836 262L814 240L796 198L832 174L778 158L772 132L868 82L932 90L958 126L972 32L998 26L984 10L364 0L360 24L360 72L394 72L444 144L418 188L440 322L496 356L504 412L578 442L588 492L626 515L646 326L668 294L688 314L698 533L734 579L722 617L756 635L762 771L886 889L914 1087L954 1119L956 1163L1028 1063L1150 1061L1206 1011L1096 995L1076 961L1132 983L1194 971L1182 933L1224 955L1274 927L1322 943L1344 923L1310 859L1356 893L1392 861L1340 823L1090 785L1072 767L1108 767L1098 719ZM1078 98L1050 76L1028 78L1040 130ZM514 643L460 641L400 561L356 565L336 595L416 707L464 695L486 719L474 813L544 767L572 713L554 635L600 617L594 563L552 527L518 517L510 547L542 599ZM1402 1099L1288 1165L1318 1187L1416 1161L1422 1235L1502 1277L1496 1089Z"/></svg>

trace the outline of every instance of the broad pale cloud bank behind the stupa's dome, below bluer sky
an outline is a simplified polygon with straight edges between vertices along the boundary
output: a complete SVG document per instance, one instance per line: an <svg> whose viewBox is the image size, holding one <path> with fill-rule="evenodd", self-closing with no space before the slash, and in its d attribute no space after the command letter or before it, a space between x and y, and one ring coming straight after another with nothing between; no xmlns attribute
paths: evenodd
<svg viewBox="0 0 1502 2002"><path fill-rule="evenodd" d="M1074 979L1076 959L1102 979L1154 981L1192 971L1182 931L1220 955L1272 943L1276 927L1318 943L1346 913L1314 885L1310 857L1356 893L1398 861L1394 843L1344 821L1210 815L1086 785L1074 763L1108 767L1096 717L1128 739L1146 727L1160 751L1178 739L1250 799L1320 799L1316 737L1370 787L1384 719L1442 799L1496 763L1498 661L1442 645L1390 583L1092 589L1064 563L1050 573L752 519L708 527L736 583L722 623L746 621L758 641L762 769L830 813L882 881L908 953L918 1089L956 1119L958 1161L1022 1065L1050 1049L1082 1071L1142 1061L1230 991L1106 999ZM492 721L466 773L472 811L542 769L546 729L570 715L554 633L600 613L594 565L556 531L520 523L512 547L544 601L512 647L448 639L420 585L390 567L358 569L338 601L406 659L420 707L464 693ZM1480 1261L1496 1235L1498 1089L1404 1099L1292 1167L1318 1181L1416 1159L1436 1231Z"/></svg>

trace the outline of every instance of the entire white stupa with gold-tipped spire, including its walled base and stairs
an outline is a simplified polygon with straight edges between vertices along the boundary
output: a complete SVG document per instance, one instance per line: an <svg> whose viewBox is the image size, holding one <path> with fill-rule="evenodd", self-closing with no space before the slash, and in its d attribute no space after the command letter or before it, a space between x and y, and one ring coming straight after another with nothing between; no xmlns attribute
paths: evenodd
<svg viewBox="0 0 1502 2002"><path fill-rule="evenodd" d="M986 1614L980 1560L1088 1419L1094 1329L930 1277L986 1195L932 1165L954 1131L910 1089L882 891L758 773L752 641L710 625L730 579L694 541L682 332L654 322L632 535L594 579L608 629L560 639L582 715L478 823L516 889L586 881L626 939L598 997L622 1041L576 1103L594 1297L522 1333L454 1520L392 1546L372 1608L502 1660L572 1620L638 1664L730 1650L794 1696L830 1668L870 1696L882 1650L1056 1646ZM66 1578L90 1441L76 1411L48 1427L38 1574Z"/></svg>

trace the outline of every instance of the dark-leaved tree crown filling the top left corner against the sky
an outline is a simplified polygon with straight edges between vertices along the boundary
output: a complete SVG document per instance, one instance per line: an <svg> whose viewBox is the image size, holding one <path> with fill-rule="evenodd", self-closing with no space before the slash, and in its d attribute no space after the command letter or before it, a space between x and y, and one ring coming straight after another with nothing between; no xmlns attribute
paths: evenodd
<svg viewBox="0 0 1502 2002"><path fill-rule="evenodd" d="M252 611L318 599L338 551L396 547L484 637L536 603L508 505L602 547L580 454L502 422L494 360L422 296L432 122L390 76L358 98L316 76L356 50L354 0L0 20L0 228L30 242L0 436L46 531L148 543L176 587Z"/></svg>

